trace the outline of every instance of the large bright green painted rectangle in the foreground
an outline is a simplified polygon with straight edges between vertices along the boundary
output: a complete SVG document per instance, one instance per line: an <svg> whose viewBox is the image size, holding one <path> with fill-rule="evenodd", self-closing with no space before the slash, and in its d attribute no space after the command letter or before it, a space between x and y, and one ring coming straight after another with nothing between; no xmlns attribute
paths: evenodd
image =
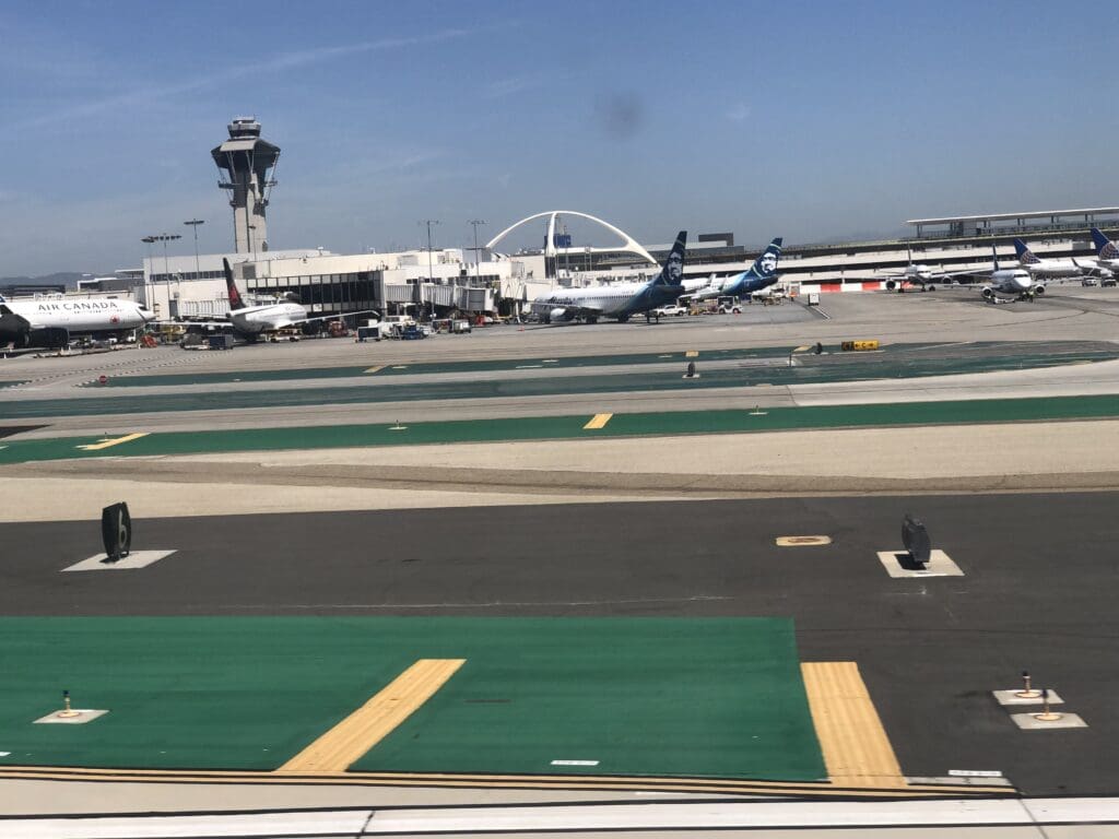
<svg viewBox="0 0 1119 839"><path fill-rule="evenodd" d="M0 764L273 770L421 658L467 661L352 769L826 774L784 619L0 619ZM32 725L63 689L110 714Z"/></svg>

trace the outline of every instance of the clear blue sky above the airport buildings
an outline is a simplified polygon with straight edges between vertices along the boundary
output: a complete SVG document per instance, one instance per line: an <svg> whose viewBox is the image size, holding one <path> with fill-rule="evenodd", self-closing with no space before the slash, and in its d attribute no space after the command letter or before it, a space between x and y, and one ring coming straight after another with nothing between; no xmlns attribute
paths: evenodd
<svg viewBox="0 0 1119 839"><path fill-rule="evenodd" d="M239 114L283 150L278 248L561 207L760 244L1116 204L1115 8L8 0L0 276L134 265L192 217L232 248L209 150Z"/></svg>

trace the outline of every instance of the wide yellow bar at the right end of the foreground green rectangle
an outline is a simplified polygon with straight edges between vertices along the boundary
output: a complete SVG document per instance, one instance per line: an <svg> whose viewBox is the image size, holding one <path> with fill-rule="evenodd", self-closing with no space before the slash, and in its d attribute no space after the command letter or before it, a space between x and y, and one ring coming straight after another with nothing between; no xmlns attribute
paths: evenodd
<svg viewBox="0 0 1119 839"><path fill-rule="evenodd" d="M893 746L854 661L805 662L805 691L836 786L905 786Z"/></svg>

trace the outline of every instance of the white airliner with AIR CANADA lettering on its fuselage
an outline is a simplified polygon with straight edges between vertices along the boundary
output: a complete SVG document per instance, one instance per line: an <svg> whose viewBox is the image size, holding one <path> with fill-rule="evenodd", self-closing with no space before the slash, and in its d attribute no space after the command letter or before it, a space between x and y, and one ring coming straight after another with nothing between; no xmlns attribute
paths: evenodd
<svg viewBox="0 0 1119 839"><path fill-rule="evenodd" d="M65 347L72 334L123 337L124 332L154 319L154 313L131 300L0 296L0 345Z"/></svg>

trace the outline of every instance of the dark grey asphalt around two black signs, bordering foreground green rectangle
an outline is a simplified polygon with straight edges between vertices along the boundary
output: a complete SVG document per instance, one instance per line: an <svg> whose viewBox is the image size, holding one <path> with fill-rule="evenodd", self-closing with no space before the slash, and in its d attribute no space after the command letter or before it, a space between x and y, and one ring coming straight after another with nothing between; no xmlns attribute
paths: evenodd
<svg viewBox="0 0 1119 839"><path fill-rule="evenodd" d="M140 572L65 574L98 522L0 525L8 615L791 615L854 660L908 775L999 770L1027 794L1119 789L1113 493L772 499L137 522ZM962 577L893 579L902 515ZM829 547L774 537L824 534ZM1024 733L1023 669L1089 728Z"/></svg>

